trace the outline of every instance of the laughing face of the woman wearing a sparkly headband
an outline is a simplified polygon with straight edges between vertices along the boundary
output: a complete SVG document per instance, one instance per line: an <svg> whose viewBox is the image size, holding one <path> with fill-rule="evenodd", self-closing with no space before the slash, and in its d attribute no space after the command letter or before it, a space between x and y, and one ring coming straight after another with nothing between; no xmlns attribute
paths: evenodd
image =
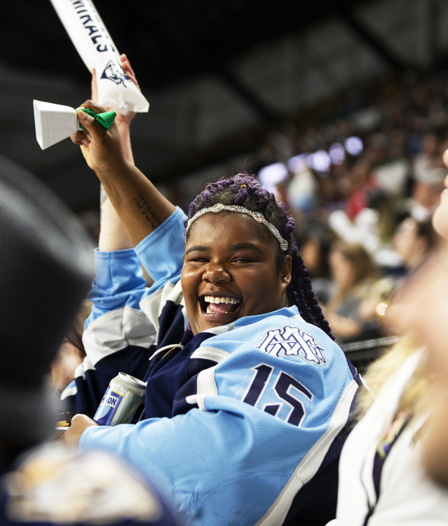
<svg viewBox="0 0 448 526"><path fill-rule="evenodd" d="M263 229L236 213L196 220L186 240L181 279L194 333L287 306L291 258L278 269L277 241L272 237L266 243Z"/></svg>

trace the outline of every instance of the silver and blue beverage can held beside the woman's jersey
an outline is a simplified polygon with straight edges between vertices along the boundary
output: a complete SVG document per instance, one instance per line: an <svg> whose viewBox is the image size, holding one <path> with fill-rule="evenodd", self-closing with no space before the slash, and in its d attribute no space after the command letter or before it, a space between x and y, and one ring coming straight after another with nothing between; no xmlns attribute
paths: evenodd
<svg viewBox="0 0 448 526"><path fill-rule="evenodd" d="M146 386L138 378L118 372L111 379L93 419L100 426L134 424L143 409Z"/></svg>

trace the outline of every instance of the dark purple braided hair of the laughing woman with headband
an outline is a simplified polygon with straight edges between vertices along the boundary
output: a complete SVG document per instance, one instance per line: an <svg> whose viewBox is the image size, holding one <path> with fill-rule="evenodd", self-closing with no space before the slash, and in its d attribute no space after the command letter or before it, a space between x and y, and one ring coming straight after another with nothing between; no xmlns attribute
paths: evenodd
<svg viewBox="0 0 448 526"><path fill-rule="evenodd" d="M334 339L330 325L323 316L322 309L318 304L311 288L311 279L304 266L297 243L295 241L294 219L287 215L284 203L277 203L273 193L264 189L256 177L245 173L238 173L229 179L220 179L209 183L196 199L189 205L188 217L185 227L191 219L202 208L208 208L217 203L223 205L241 205L247 210L261 212L267 221L271 222L280 231L281 236L288 242L285 252L277 245L278 268L285 262L285 257L292 258L291 283L287 288L287 298L290 305L297 305L302 318L308 323L313 323L321 328L327 335Z"/></svg>

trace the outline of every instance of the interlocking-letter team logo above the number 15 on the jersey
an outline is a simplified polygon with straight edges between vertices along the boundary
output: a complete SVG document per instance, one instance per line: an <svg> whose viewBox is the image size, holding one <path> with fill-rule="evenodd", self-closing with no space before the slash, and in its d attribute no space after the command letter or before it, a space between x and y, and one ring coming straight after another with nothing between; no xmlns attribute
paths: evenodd
<svg viewBox="0 0 448 526"><path fill-rule="evenodd" d="M323 349L313 337L297 327L269 330L262 344L257 348L267 354L276 356L299 356L303 354L308 362L321 365L327 363L323 356Z"/></svg>

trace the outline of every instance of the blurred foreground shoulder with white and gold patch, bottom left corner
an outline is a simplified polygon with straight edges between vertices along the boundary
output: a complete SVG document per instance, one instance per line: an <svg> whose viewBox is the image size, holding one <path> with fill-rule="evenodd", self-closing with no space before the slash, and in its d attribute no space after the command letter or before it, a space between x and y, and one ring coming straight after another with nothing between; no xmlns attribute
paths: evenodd
<svg viewBox="0 0 448 526"><path fill-rule="evenodd" d="M1 524L178 524L132 468L105 452L51 443L27 454L1 486Z"/></svg>

